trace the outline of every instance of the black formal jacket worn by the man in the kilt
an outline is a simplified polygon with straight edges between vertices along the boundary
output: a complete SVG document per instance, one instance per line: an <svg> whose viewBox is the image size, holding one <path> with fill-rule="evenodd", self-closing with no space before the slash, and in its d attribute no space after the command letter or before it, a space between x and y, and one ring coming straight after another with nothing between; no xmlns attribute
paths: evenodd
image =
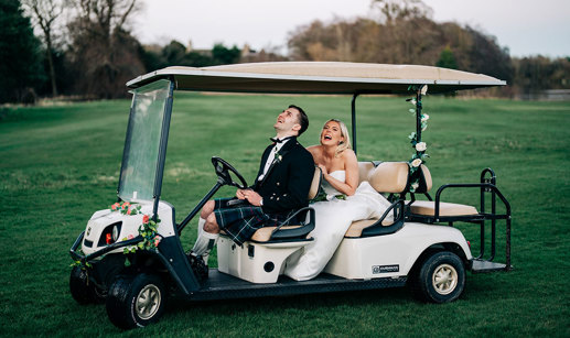
<svg viewBox="0 0 570 338"><path fill-rule="evenodd" d="M257 177L264 173L267 157L273 145L269 145L261 156ZM280 159L273 161L262 181L252 188L264 198L264 212L289 214L308 206L306 196L314 174L314 161L297 138L287 141L279 150Z"/></svg>

